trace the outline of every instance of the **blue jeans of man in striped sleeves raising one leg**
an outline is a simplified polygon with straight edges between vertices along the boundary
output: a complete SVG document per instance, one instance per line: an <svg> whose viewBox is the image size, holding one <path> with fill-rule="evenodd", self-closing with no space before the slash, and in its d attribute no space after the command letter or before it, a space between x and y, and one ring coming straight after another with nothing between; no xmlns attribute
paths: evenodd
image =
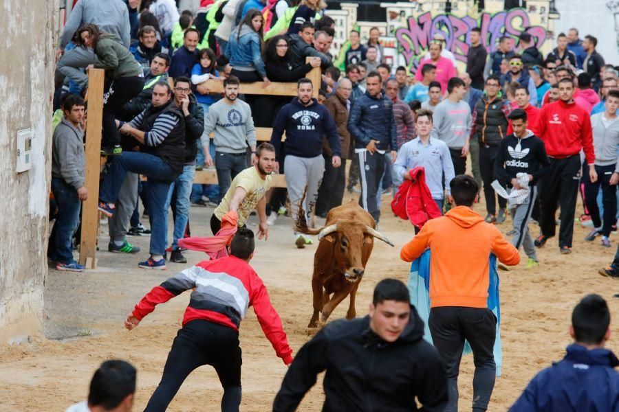
<svg viewBox="0 0 619 412"><path fill-rule="evenodd" d="M170 165L160 157L142 152L122 152L114 157L107 176L101 184L99 199L106 203L115 203L127 172L144 174L149 179L146 185L146 207L151 222L152 255L163 255L166 251L166 199L170 185L178 177Z"/></svg>

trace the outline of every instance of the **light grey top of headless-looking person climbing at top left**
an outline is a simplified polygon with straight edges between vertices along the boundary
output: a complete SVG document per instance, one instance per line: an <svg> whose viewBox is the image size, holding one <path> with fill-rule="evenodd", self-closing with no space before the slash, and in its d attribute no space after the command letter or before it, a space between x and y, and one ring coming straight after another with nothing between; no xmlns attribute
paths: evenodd
<svg viewBox="0 0 619 412"><path fill-rule="evenodd" d="M79 0L65 23L61 34L61 49L78 30L80 25L94 23L102 32L116 34L122 39L124 47L129 49L131 43L131 26L129 25L129 11L121 0Z"/></svg>

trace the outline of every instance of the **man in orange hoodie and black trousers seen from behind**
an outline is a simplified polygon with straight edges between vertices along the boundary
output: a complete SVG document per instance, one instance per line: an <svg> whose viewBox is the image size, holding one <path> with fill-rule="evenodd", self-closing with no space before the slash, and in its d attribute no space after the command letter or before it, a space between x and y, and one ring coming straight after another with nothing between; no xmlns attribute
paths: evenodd
<svg viewBox="0 0 619 412"><path fill-rule="evenodd" d="M449 404L445 411L457 411L458 373L464 340L473 349L473 411L486 411L495 386L493 354L497 319L488 309L490 253L508 266L520 262L518 250L494 225L471 207L479 186L472 176L460 174L450 182L456 205L445 216L428 220L413 240L405 244L400 258L412 262L429 247L430 319L435 347L447 369ZM453 247L457 239L459 246Z"/></svg>

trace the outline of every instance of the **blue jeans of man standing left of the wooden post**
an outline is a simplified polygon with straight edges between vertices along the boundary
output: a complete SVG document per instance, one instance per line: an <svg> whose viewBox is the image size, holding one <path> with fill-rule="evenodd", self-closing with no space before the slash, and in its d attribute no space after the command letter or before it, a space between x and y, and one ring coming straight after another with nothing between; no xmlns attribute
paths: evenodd
<svg viewBox="0 0 619 412"><path fill-rule="evenodd" d="M80 225L82 202L77 190L63 179L52 177L52 193L58 205L58 215L47 244L47 258L69 264L73 260L73 235Z"/></svg>

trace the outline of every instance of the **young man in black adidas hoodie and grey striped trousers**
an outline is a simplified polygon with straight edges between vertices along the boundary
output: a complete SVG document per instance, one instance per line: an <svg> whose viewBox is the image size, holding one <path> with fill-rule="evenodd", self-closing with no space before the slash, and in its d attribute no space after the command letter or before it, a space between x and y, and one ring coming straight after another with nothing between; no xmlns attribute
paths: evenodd
<svg viewBox="0 0 619 412"><path fill-rule="evenodd" d="M537 197L537 181L548 171L550 161L546 155L544 142L528 130L528 115L522 108L517 108L508 116L514 133L501 140L497 161L495 163L495 178L501 185L519 190L517 175L526 173L529 181L528 196L522 203L510 205L512 215L512 244L516 249L523 245L529 258L527 267L538 265L537 253L533 238L529 233L529 220Z"/></svg>

